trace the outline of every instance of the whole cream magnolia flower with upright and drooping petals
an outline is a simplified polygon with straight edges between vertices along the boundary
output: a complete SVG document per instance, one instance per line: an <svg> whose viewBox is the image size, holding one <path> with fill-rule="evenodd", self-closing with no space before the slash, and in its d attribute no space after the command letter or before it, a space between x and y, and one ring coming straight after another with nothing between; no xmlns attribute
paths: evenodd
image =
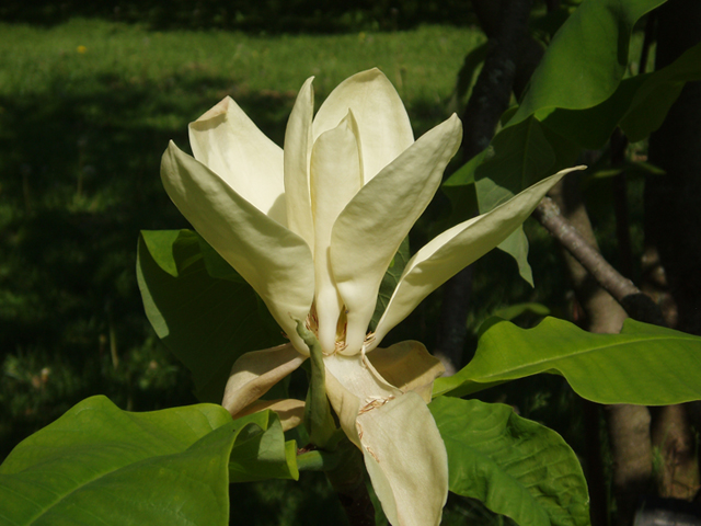
<svg viewBox="0 0 701 526"><path fill-rule="evenodd" d="M194 158L173 142L163 156L170 197L290 341L239 358L222 403L233 415L265 407L295 413L295 402L256 401L309 356L296 330L304 320L324 354L329 400L363 451L390 523L437 525L448 462L426 404L443 368L417 342L376 347L429 293L515 230L564 172L421 249L368 334L382 277L438 188L462 128L452 115L414 141L404 105L377 69L342 82L315 116L313 106L309 79L283 150L226 98L189 125Z"/></svg>

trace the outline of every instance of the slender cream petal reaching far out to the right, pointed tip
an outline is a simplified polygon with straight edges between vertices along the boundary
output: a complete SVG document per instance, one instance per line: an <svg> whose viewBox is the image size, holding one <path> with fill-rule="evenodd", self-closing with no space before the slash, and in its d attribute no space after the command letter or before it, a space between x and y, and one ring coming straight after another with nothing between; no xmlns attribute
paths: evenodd
<svg viewBox="0 0 701 526"><path fill-rule="evenodd" d="M406 264L377 324L376 338L370 347L377 345L390 329L406 318L432 291L504 241L566 173L584 168L558 172L493 210L456 225L429 241Z"/></svg>

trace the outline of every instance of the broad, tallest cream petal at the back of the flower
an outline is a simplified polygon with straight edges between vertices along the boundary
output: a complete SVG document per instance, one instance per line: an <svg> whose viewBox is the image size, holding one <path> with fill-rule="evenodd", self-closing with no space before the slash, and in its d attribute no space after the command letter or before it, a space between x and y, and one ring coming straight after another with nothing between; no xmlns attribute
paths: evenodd
<svg viewBox="0 0 701 526"><path fill-rule="evenodd" d="M414 134L402 100L379 69L356 73L331 92L314 117L314 140L335 128L348 108L358 123L367 183L411 146Z"/></svg>

